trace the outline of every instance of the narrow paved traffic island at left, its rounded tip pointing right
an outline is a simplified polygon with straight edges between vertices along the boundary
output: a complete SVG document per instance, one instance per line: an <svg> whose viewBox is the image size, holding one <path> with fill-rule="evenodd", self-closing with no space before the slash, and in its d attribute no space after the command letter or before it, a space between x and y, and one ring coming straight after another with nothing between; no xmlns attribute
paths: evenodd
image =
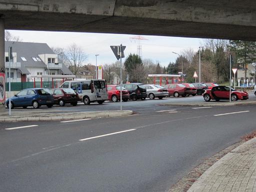
<svg viewBox="0 0 256 192"><path fill-rule="evenodd" d="M40 111L31 109L27 111L11 111L0 112L0 122L3 121L32 121L32 120L70 120L81 118L100 118L126 116L132 114L132 110L107 110L107 111L91 111L91 112L70 112L60 110Z"/></svg>

